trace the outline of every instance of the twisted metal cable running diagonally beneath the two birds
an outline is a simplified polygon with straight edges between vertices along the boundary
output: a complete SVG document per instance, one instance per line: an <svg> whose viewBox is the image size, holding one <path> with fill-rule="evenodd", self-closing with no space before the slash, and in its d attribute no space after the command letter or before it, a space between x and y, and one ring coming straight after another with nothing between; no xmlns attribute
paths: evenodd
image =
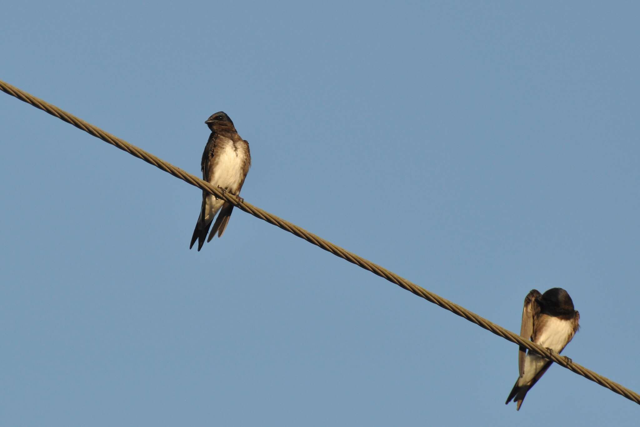
<svg viewBox="0 0 640 427"><path fill-rule="evenodd" d="M177 168L176 166L173 166L171 163L168 163L160 159L159 157L156 157L153 154L150 154L145 150L140 149L135 145L128 143L125 140L117 138L116 136L113 136L112 134L103 131L99 127L89 124L84 120L82 120L81 118L77 118L76 116L70 113L67 113L67 111L64 111L63 109L60 109L52 104L49 104L49 102L36 98L33 95L27 92L24 92L23 90L20 90L15 86L9 85L8 83L5 83L4 81L1 81L1 80L0 80L0 89L3 90L3 92L8 93L9 95L12 95L13 97L20 99L20 101L24 101L28 104L31 104L35 108L42 109L46 113L49 113L52 116L58 117L60 118L60 120L63 120L68 124L72 124L76 126L78 129L81 129L86 133L91 134L96 138L99 138L100 140L105 141L111 145L114 145L115 147L118 147L118 149L120 150L124 150L128 152L132 156L136 156L139 159L142 159L147 163L150 163L151 165L154 165L157 168L164 170L164 172L170 173L174 177L182 179L183 181L186 181L193 186L203 189L204 191L207 191L208 193L214 195L217 198L222 198L224 200L227 200L228 202L234 204L234 206L236 206L238 209L241 209L246 213L252 214L256 218L260 218L260 220L266 221L271 225L275 225L280 229L283 229L285 231L290 232L291 234L294 234L294 236L298 236L299 238L305 239L306 241L308 241L309 243L312 243L313 245L319 246L320 248L326 250L327 252L331 252L333 255L336 255L337 257L340 257L342 259L345 259L346 261L356 264L356 266L360 266L365 270L371 271L371 273L374 273L375 275L378 275L382 278L387 279L389 282L396 284L399 287L402 287L406 291L409 291L417 296L420 296L421 298L424 298L425 300L431 303L434 303L445 310L449 310L452 313L457 314L461 318L465 318L468 321L480 326L481 328L484 328L492 332L493 334L498 335L499 337L502 337L511 342L515 342L516 344L524 348L527 348L528 350L534 351L534 353L538 353L539 355L556 362L560 366L566 367L566 369L569 369L570 371L573 371L578 375L582 375L585 378L588 378L589 380L595 383L598 383L603 387L606 387L607 389L614 391L620 394L621 396L624 396L625 398L631 401L634 401L640 405L639 394L637 394L636 392L630 389L627 389L627 387L624 387L623 385L620 385L612 380L609 380L609 378L606 378L605 376L599 375L598 373L595 373L584 366L580 366L579 364L572 362L571 359L568 359L557 353L550 352L546 348L543 348L542 346L539 346L538 344L535 344L534 342L529 341L529 339L525 339L524 337L521 337L518 334L515 334L505 328L502 328L502 326L496 325L492 321L484 319L483 317L478 316L476 313L471 312L470 310L467 310L464 307L457 305L456 303L452 303L451 301L446 300L445 298L442 298L441 296L438 296L435 293L432 293L424 289L423 287L417 286L413 282L410 282L409 280L406 280L405 278L400 277L396 273L393 273L392 271L389 271L386 268L379 266L378 264L374 264L373 262L368 261L367 259L364 259L356 254L353 254L352 252L349 252L348 250L341 248L340 246L333 245L333 243L331 243L330 241L320 238L319 236L316 236L316 234L308 232L307 230L302 229L301 227L298 227L297 225L292 224L286 220L283 220L282 218L275 216L274 214L268 213L250 203L241 202L240 200L238 200L238 198L236 198L231 193L228 193L228 192L222 193L220 189L216 188L215 186L212 186L212 184L209 184L209 182L202 181L202 179L196 177L195 175L191 175L191 173L185 172L184 170Z"/></svg>

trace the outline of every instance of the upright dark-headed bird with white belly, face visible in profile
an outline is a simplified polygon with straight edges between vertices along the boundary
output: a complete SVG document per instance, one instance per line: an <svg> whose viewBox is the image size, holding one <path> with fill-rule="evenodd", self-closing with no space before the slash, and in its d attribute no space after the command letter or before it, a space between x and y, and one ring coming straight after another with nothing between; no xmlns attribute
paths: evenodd
<svg viewBox="0 0 640 427"><path fill-rule="evenodd" d="M240 138L236 127L234 127L234 122L223 111L211 115L205 124L209 126L211 135L209 135L209 140L202 153L202 179L219 187L223 192L229 191L233 195L239 196L251 166L249 143ZM193 243L196 240L198 241L198 251L202 249L213 217L218 211L220 214L213 224L207 241L211 241L216 232L218 232L218 237L221 237L227 228L233 209L234 205L202 191L200 216L196 228L193 230L189 249L193 248Z"/></svg>

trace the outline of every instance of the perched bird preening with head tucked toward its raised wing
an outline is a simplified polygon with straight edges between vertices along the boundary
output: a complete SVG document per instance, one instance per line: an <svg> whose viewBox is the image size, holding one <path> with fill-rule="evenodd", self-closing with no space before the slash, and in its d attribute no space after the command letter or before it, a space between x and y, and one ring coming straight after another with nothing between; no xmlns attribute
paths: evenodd
<svg viewBox="0 0 640 427"><path fill-rule="evenodd" d="M579 321L580 313L573 309L573 301L564 289L554 287L543 294L533 289L524 299L520 335L560 353L577 332ZM511 399L517 402L516 410L520 410L527 392L552 364L531 351L525 355L526 350L522 346L518 350L520 376L506 401L507 405Z"/></svg>

